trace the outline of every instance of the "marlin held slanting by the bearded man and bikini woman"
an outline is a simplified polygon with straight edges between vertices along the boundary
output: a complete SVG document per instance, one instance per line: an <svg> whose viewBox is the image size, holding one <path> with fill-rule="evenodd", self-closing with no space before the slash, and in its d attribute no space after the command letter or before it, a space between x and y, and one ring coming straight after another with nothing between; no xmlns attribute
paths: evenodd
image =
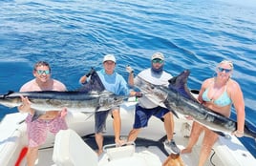
<svg viewBox="0 0 256 166"><path fill-rule="evenodd" d="M139 78L138 88L145 95L151 95L160 106L170 109L173 114L190 115L195 121L211 129L219 135L227 136L237 130L237 122L218 114L199 103L187 88L187 78L190 72L183 71L178 76L171 78L168 87L153 85ZM177 114L179 113L179 114ZM256 132L250 130L245 124L245 136L255 139Z"/></svg>

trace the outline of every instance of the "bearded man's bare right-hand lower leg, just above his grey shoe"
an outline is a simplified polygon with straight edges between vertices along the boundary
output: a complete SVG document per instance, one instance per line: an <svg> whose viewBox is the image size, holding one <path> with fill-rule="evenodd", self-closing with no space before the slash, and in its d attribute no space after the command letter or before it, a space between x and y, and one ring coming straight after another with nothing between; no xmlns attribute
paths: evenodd
<svg viewBox="0 0 256 166"><path fill-rule="evenodd" d="M174 132L174 121L173 121L173 114L167 113L164 114L164 129L167 135L168 141L171 141L173 138L173 132Z"/></svg>

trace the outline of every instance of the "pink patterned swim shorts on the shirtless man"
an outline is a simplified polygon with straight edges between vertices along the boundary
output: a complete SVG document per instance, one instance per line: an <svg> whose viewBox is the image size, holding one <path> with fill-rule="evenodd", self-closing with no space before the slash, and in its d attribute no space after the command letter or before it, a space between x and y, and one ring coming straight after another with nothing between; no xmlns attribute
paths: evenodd
<svg viewBox="0 0 256 166"><path fill-rule="evenodd" d="M32 114L26 118L29 137L29 147L42 145L47 138L48 131L56 135L60 130L68 129L65 118L59 115L51 120L36 119L32 121Z"/></svg>

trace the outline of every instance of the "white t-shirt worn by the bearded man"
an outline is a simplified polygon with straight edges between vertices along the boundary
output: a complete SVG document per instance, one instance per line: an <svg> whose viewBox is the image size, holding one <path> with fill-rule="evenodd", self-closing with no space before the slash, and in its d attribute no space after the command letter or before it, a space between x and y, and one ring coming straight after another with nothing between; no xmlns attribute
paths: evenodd
<svg viewBox="0 0 256 166"><path fill-rule="evenodd" d="M149 68L140 72L138 76L135 77L135 86L149 88L150 85L145 85L146 82L153 85L168 86L169 85L168 80L171 78L172 78L172 75L170 73L166 73L164 71L160 74L152 73L151 68ZM164 107L164 104L162 103L162 101L158 97L154 96L154 93L146 93L146 92L142 92L142 93L143 93L143 96L139 98L140 107L143 107L146 109L152 109L158 106Z"/></svg>

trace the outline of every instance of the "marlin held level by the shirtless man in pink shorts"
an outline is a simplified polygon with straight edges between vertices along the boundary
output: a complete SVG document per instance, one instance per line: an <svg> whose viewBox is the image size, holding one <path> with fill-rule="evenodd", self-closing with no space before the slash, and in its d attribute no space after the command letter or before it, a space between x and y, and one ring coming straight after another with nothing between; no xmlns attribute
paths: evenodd
<svg viewBox="0 0 256 166"><path fill-rule="evenodd" d="M35 114L40 114L37 112L44 114L47 111L60 111L64 107L69 112L92 114L109 110L129 97L106 91L96 71L92 69L90 73L89 82L78 90L67 92L9 92L0 94L0 104L9 108L20 106L22 104L22 95L30 99L31 107L36 111Z"/></svg>

